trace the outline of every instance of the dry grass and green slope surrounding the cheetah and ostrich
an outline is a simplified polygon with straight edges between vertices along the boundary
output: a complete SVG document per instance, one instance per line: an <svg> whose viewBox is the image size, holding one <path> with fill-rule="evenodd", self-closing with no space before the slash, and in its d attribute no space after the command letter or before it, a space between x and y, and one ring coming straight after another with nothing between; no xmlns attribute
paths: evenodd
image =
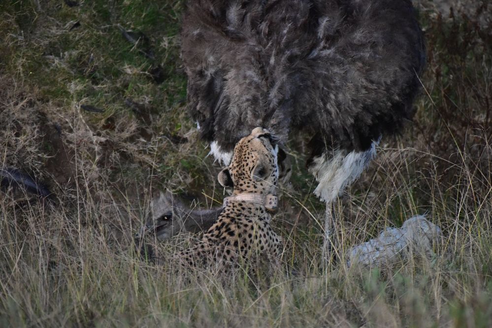
<svg viewBox="0 0 492 328"><path fill-rule="evenodd" d="M474 22L492 8L468 18L421 8L429 63L415 123L384 141L339 208L343 247L428 212L446 236L437 253L384 269L323 267L323 209L302 171L303 140L293 140L297 170L277 216L286 269L229 279L146 265L133 253L151 189L190 192L203 206L222 197L211 188L219 168L203 159L206 145L184 113L181 8L179 0L0 4L1 162L58 197L52 207L0 192L0 325L487 327L492 32ZM155 59L119 27L147 35ZM159 65L161 84L149 73Z"/></svg>

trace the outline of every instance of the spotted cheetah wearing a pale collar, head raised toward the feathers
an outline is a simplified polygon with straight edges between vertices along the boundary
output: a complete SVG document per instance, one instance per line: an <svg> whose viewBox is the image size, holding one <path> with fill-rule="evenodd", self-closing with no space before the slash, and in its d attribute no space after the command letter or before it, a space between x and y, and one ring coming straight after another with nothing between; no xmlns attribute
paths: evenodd
<svg viewBox="0 0 492 328"><path fill-rule="evenodd" d="M218 175L223 187L233 188L232 195L197 245L178 252L173 262L197 267L213 260L237 266L253 254L278 260L282 239L270 226L278 203L277 152L275 138L261 127L237 143L229 167Z"/></svg>

